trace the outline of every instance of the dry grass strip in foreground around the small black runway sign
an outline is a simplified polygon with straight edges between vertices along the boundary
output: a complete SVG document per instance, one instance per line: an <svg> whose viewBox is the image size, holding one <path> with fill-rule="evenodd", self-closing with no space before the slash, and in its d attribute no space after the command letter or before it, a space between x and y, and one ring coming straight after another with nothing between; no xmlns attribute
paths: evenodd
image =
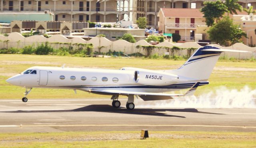
<svg viewBox="0 0 256 148"><path fill-rule="evenodd" d="M253 148L255 132L163 132L150 131L146 140L140 131L122 132L50 132L0 134L0 148ZM122 140L118 140L118 139Z"/></svg>

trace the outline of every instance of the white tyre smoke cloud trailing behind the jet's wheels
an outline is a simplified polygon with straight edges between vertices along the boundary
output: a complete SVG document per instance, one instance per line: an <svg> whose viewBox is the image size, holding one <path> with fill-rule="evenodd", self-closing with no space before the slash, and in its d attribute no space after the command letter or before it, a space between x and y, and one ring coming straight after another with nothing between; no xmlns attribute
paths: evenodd
<svg viewBox="0 0 256 148"><path fill-rule="evenodd" d="M256 108L256 90L244 86L241 90L221 87L198 96L176 97L171 100L140 101L136 107L148 108Z"/></svg>

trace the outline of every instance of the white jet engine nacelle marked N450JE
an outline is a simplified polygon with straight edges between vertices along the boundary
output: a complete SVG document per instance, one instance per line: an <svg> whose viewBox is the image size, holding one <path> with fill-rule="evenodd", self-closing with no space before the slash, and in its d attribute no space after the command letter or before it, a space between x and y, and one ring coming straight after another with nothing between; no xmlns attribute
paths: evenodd
<svg viewBox="0 0 256 148"><path fill-rule="evenodd" d="M175 74L166 72L157 72L155 70L136 70L134 72L134 81L142 85L162 86L175 84L179 78Z"/></svg>

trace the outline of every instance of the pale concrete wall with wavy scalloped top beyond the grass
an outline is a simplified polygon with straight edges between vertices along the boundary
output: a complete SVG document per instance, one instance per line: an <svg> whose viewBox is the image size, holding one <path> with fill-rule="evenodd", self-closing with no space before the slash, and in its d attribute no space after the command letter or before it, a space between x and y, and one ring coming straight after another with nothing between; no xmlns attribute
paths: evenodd
<svg viewBox="0 0 256 148"><path fill-rule="evenodd" d="M23 37L20 33L10 33L8 37L5 37L3 35L0 35L0 49L4 48L22 48L27 45L36 45L38 43L45 43L49 42L51 45L54 45L54 48L59 48L57 43L82 43L82 44L92 44L94 49L93 51L98 52L108 52L111 51L120 51L125 54L132 54L132 53L141 53L143 55L146 55L146 51L143 48L137 48L139 46L152 46L149 43L147 43L145 40L140 40L136 43L129 43L124 40L117 40L117 41L110 41L106 39L105 37L93 37L89 41L86 41L82 38L76 37L72 39L68 39L64 37L63 35L52 35L50 38L43 37L41 35L33 35L30 37ZM68 46L68 45L66 45ZM186 42L186 43L169 43L169 42L162 42L157 45L154 45L156 48L154 48L151 52L151 54L158 54L158 55L164 55L166 52L170 53L170 49L174 46L184 49L189 48L200 48L202 46L198 45L198 43L195 42ZM223 55L228 57L235 57L235 58L256 58L256 47L248 47L242 43L236 43L230 47L222 47L217 44L212 44L212 46L222 48L222 49L236 49L236 50L242 50L242 51L251 51L252 53L223 53ZM63 47L63 45L62 45ZM168 48L166 48L168 47ZM188 55L188 50L180 50L175 52L176 55Z"/></svg>

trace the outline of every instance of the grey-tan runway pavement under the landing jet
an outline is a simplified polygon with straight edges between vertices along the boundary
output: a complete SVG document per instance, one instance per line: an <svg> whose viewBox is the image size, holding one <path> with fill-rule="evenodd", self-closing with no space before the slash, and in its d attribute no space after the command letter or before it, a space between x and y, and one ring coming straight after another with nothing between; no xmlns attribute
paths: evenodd
<svg viewBox="0 0 256 148"><path fill-rule="evenodd" d="M126 99L115 109L110 99L0 100L0 132L59 131L242 131L256 132L256 108L136 108ZM140 104L142 101L136 101Z"/></svg>

